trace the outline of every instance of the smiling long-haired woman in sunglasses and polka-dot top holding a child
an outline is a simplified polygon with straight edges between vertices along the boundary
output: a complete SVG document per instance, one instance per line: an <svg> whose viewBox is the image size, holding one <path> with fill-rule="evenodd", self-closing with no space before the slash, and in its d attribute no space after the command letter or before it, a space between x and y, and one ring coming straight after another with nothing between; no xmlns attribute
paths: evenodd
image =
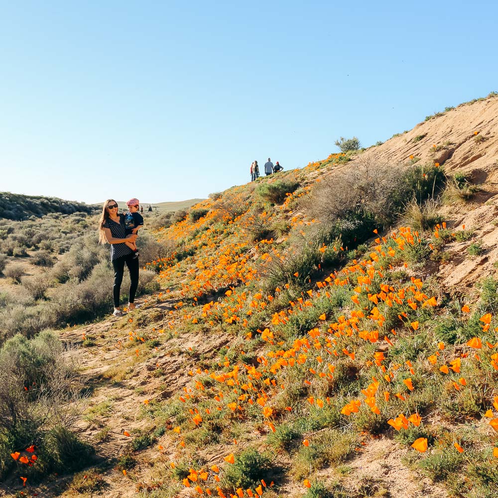
<svg viewBox="0 0 498 498"><path fill-rule="evenodd" d="M134 304L138 287L138 258L126 246L126 242L135 242L136 234L125 236L124 214L118 212L118 203L108 199L102 207L99 220L99 244L111 244L111 262L114 268L114 316L123 316L120 308L121 283L123 282L124 264L129 271L128 309L136 308Z"/></svg>

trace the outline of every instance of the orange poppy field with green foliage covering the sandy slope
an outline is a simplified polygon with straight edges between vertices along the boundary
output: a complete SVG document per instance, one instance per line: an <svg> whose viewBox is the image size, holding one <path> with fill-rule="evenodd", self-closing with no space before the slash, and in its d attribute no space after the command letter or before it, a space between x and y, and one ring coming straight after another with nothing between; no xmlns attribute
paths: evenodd
<svg viewBox="0 0 498 498"><path fill-rule="evenodd" d="M428 174L420 170L420 180ZM203 218L158 233L183 251L151 264L176 300L161 333L230 338L191 361L191 380L176 396L143 407L145 417L171 425L160 450L171 475L188 496L278 496L289 480L302 488L296 496L357 496L323 470L381 437L399 442L404 464L449 494L493 496L498 283L489 277L471 302L422 277L425 260L465 226L373 229L360 249L340 238L318 244L307 237L320 222L299 210L313 184L280 205L261 200L258 211L251 187L225 193L223 202L240 209L234 218L208 200ZM284 220L287 232L252 241L254 220L270 228ZM296 234L315 259L293 256ZM289 261L296 271L277 271ZM270 288L275 276L281 281ZM210 446L225 450L201 463ZM272 473L279 461L286 464Z"/></svg>

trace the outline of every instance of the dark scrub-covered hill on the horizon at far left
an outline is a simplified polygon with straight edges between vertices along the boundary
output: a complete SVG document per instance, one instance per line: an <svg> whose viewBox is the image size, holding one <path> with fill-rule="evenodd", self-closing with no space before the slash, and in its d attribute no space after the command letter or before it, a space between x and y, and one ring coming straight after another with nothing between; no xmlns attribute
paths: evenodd
<svg viewBox="0 0 498 498"><path fill-rule="evenodd" d="M82 202L65 201L57 197L0 192L0 218L7 220L25 220L31 216L40 218L48 213L76 212L93 214L96 209Z"/></svg>

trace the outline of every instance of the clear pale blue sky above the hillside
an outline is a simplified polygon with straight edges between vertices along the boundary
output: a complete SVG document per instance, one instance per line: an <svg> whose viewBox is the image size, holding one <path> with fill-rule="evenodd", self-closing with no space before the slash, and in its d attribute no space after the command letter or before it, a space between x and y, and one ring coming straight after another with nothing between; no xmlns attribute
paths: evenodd
<svg viewBox="0 0 498 498"><path fill-rule="evenodd" d="M491 1L0 7L0 191L207 197L498 90Z"/></svg>

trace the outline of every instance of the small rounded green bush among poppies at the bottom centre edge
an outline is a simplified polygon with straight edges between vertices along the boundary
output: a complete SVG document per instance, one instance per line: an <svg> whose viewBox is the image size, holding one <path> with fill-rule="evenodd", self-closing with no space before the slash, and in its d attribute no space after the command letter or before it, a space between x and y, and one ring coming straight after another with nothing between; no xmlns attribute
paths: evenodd
<svg viewBox="0 0 498 498"><path fill-rule="evenodd" d="M235 463L226 470L227 482L236 488L253 488L264 479L271 466L268 455L249 448L235 457Z"/></svg>

